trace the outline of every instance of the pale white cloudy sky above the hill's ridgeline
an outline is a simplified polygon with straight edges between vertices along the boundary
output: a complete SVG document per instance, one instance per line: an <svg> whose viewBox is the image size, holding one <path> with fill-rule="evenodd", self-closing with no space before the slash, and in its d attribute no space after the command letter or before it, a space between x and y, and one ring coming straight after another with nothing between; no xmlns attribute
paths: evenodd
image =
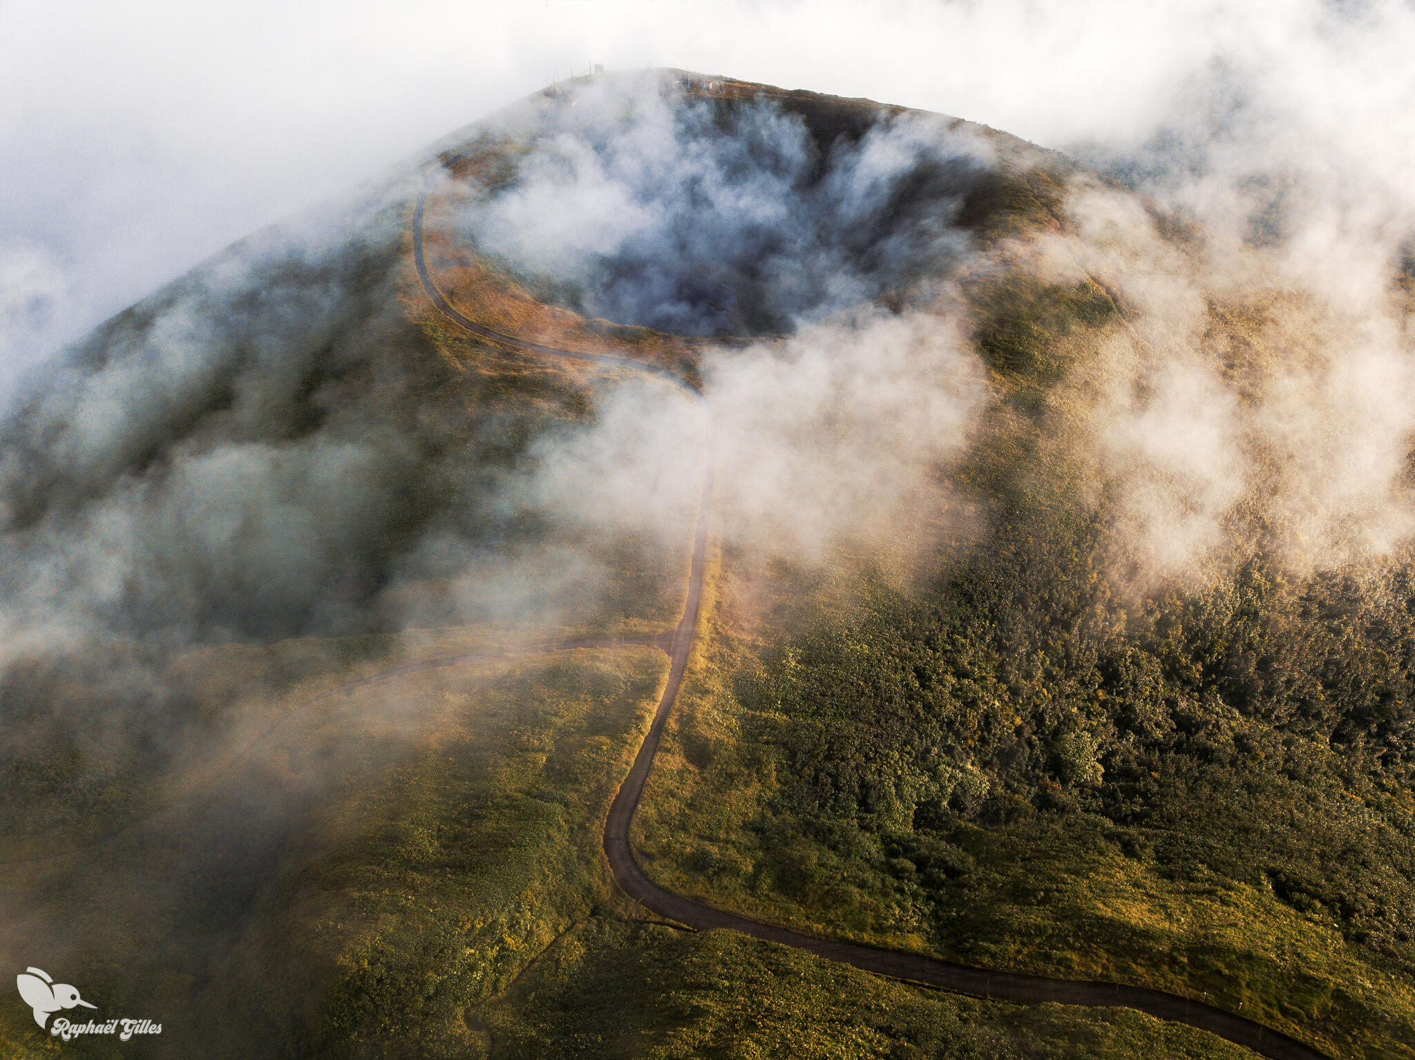
<svg viewBox="0 0 1415 1060"><path fill-rule="evenodd" d="M1399 189L1412 52L1415 13L1388 0L0 0L0 393L228 243L590 62L1108 154L1211 131L1238 93L1245 134Z"/></svg>

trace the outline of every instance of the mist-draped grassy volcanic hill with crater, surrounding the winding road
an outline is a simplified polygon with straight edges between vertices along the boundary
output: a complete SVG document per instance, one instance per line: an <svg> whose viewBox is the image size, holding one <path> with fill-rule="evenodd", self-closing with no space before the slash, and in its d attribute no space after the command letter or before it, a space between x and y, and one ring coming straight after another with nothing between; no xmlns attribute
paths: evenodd
<svg viewBox="0 0 1415 1060"><path fill-rule="evenodd" d="M785 356L774 332L797 321L852 342L865 302L957 338L983 380L927 479L969 522L921 555L792 554L740 495L715 513L708 619L635 821L648 872L818 934L1159 987L1334 1056L1411 1057L1411 557L1295 564L1254 489L1213 570L1145 581L1095 437L1116 351L1162 358L1099 273L1047 259L1075 246L1065 160L743 82L654 85L594 124L582 88L582 109L533 98L440 153L426 252L458 311L712 393ZM625 154L625 129L678 154L634 136ZM606 211L630 235L546 209L640 155L666 168ZM0 425L10 964L163 1022L156 1056L1247 1054L688 933L617 893L603 820L666 659L515 649L678 620L700 410L458 331L412 267L416 192L233 247ZM548 225L555 260L538 270L507 219ZM741 242L717 247L719 222ZM1258 401L1290 352L1265 328L1317 311L1276 291L1206 312L1200 353ZM768 399L787 434L874 437ZM737 471L781 457L760 445ZM11 1002L0 1053L55 1054Z"/></svg>

